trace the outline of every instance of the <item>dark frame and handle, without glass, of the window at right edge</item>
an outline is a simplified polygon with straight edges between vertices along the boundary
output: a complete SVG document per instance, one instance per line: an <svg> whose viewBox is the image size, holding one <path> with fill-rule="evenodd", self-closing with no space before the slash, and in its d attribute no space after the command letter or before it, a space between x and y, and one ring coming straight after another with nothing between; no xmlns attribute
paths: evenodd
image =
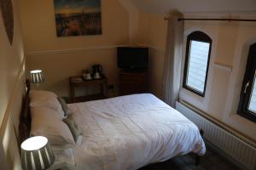
<svg viewBox="0 0 256 170"><path fill-rule="evenodd" d="M256 58L253 59L253 50L254 50L254 53L256 54L256 42L253 43L249 48L246 71L241 84L241 93L240 93L237 114L247 118L252 122L256 122L256 113L248 110L251 95L253 93L253 81L255 81L254 83L256 83L256 80L254 80L254 77L256 74L255 72L256 65L253 65L253 61L256 61ZM247 86L247 82L250 82L248 86ZM246 93L245 93L245 90L246 90Z"/></svg>

